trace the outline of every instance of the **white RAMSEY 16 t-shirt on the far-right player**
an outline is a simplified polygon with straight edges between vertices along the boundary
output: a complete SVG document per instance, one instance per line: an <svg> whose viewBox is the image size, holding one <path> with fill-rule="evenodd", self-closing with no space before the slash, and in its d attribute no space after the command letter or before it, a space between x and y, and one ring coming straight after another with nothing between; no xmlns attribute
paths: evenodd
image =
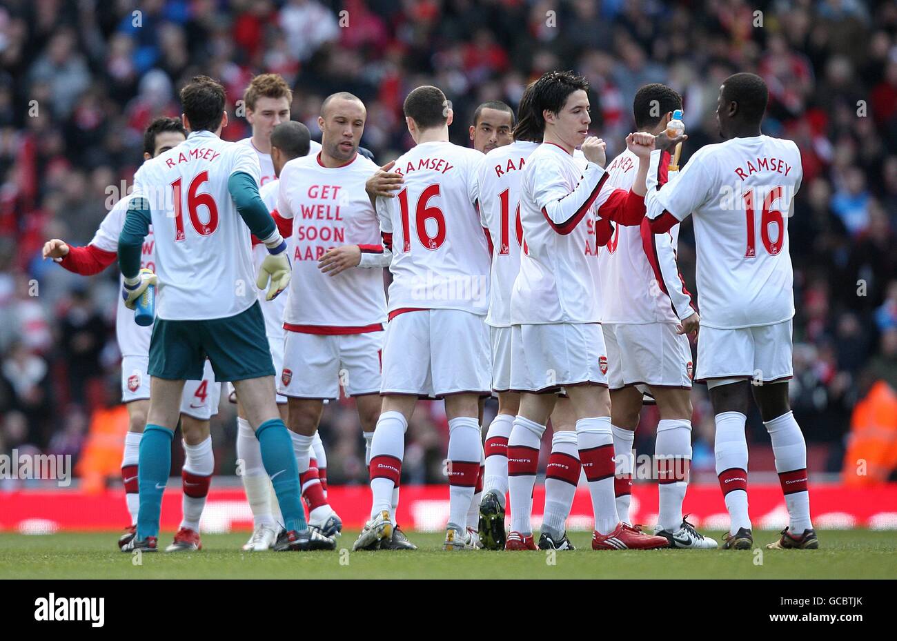
<svg viewBox="0 0 897 641"><path fill-rule="evenodd" d="M767 135L733 138L694 153L659 190L651 153L650 218L694 215L701 324L774 325L794 316L788 218L803 178L797 144Z"/></svg>

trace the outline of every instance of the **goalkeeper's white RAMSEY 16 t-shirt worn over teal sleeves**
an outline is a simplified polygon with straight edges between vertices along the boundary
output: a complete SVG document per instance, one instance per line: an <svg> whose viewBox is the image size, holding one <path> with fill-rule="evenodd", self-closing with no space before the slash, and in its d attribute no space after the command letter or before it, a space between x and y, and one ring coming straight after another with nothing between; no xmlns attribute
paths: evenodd
<svg viewBox="0 0 897 641"><path fill-rule="evenodd" d="M256 154L208 131L137 169L130 197L151 205L159 318L225 318L256 302L250 232L227 186L237 172L258 182Z"/></svg>

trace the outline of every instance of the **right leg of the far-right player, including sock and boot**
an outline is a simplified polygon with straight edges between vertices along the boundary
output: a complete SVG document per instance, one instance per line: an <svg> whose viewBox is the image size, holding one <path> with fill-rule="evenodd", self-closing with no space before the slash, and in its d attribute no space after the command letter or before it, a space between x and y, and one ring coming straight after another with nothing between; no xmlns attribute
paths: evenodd
<svg viewBox="0 0 897 641"><path fill-rule="evenodd" d="M806 442L788 403L788 381L753 385L752 388L763 425L772 439L776 472L779 472L788 508L788 527L782 531L779 541L766 547L771 550L816 550L819 541L810 522Z"/></svg>

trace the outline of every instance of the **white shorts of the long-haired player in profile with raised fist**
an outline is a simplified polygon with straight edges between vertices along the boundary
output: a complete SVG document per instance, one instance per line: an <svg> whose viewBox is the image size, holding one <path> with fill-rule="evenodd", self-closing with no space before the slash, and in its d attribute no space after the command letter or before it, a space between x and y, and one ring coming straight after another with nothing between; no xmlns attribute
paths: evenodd
<svg viewBox="0 0 897 641"><path fill-rule="evenodd" d="M607 386L607 352L601 325L514 325L511 382L521 392L554 392L564 385L582 383Z"/></svg>

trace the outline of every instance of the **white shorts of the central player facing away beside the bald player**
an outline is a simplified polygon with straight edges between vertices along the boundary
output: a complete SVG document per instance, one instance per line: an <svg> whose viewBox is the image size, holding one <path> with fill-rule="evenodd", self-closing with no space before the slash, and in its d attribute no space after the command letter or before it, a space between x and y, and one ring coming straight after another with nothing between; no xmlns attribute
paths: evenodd
<svg viewBox="0 0 897 641"><path fill-rule="evenodd" d="M382 394L441 398L462 392L489 395L489 327L461 309L399 314L383 344Z"/></svg>

